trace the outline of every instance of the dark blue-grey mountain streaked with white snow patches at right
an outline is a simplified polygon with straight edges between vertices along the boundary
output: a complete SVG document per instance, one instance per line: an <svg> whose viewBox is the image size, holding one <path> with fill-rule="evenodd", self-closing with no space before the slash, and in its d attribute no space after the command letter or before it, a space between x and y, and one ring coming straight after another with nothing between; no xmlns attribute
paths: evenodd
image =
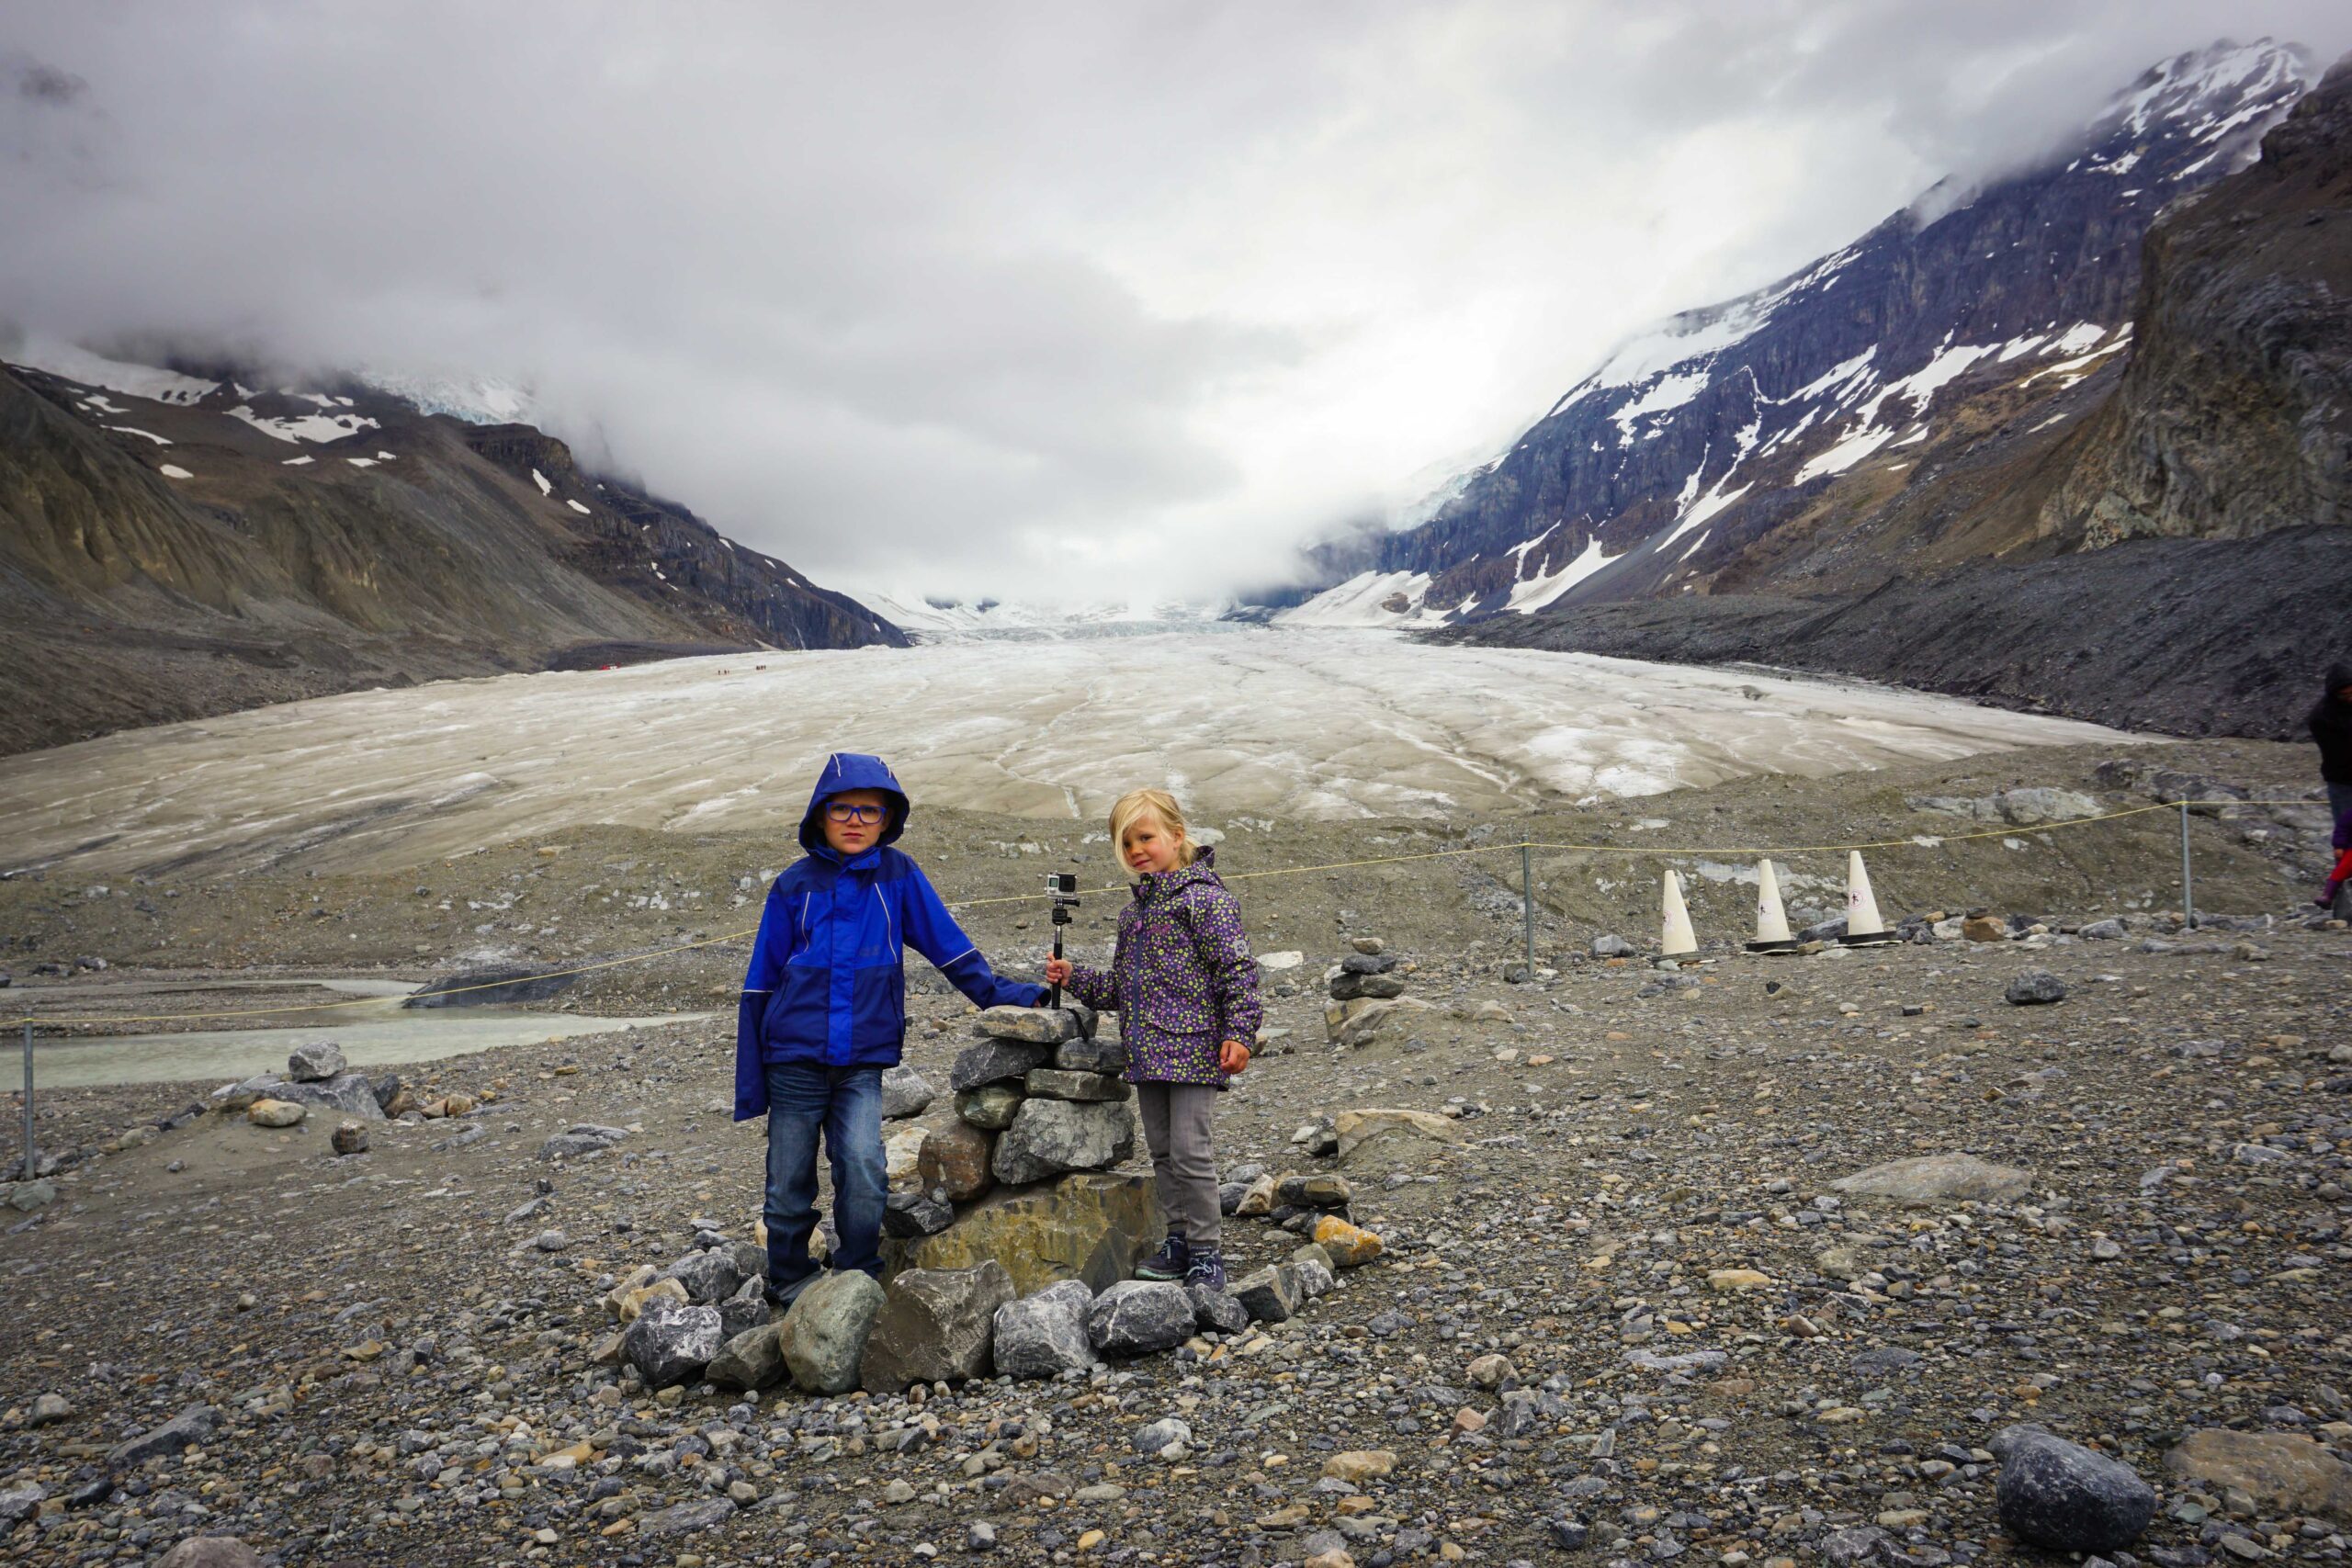
<svg viewBox="0 0 2352 1568"><path fill-rule="evenodd" d="M2312 75L2267 40L2169 59L2044 165L1945 181L1771 287L1635 334L1428 522L1371 562L1331 555L1324 581L1345 581L1275 618L1867 588L2030 543L1978 503L2114 383L2159 209L2251 162ZM1955 470L1978 480L1910 484Z"/></svg>

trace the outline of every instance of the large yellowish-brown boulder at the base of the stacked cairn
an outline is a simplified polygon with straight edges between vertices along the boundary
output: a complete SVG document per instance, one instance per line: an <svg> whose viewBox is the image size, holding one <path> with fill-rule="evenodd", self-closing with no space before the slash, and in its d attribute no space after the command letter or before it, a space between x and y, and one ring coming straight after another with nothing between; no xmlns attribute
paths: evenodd
<svg viewBox="0 0 2352 1568"><path fill-rule="evenodd" d="M969 1269L995 1258L1023 1295L1056 1279L1101 1291L1127 1279L1164 1234L1150 1173L1065 1175L997 1187L938 1234L884 1241L882 1255L913 1269Z"/></svg>

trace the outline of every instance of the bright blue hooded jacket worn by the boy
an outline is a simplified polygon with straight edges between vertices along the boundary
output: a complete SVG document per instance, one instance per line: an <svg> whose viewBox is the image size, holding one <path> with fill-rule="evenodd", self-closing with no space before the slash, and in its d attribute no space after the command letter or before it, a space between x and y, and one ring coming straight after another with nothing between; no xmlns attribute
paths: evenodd
<svg viewBox="0 0 2352 1568"><path fill-rule="evenodd" d="M826 802L882 790L889 820L873 849L842 860L826 844ZM1037 1006L1042 985L1000 980L962 933L931 879L891 844L908 799L889 764L835 752L800 818L795 860L767 891L736 1009L736 1121L767 1114L767 1063L894 1067L906 1039L906 959L913 947L978 1006Z"/></svg>

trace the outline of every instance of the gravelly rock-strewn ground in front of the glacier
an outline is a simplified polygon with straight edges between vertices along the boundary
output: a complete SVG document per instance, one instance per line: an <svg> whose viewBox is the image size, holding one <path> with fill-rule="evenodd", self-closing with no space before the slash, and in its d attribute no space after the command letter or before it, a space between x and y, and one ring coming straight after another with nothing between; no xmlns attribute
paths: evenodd
<svg viewBox="0 0 2352 1568"><path fill-rule="evenodd" d="M600 1359L642 1265L753 1239L762 1145L729 1121L722 1025L313 1084L332 1060L287 1053L318 1030L280 1030L252 1093L318 1100L287 1126L207 1110L209 1081L49 1093L61 1168L0 1229L0 1528L28 1563L200 1533L280 1563L2338 1561L2352 936L2305 919L2314 811L2230 804L2303 799L2305 773L2194 743L1534 823L1228 823L1237 877L1522 832L1724 853L1536 851L1531 973L1517 853L1237 879L1268 1039L1221 1161L1341 1197L1378 1255L1287 1321L1044 1380L753 1394ZM2166 795L2197 802L2197 931L2169 914L2173 811L2063 827ZM1731 846L1858 837L1922 839L1872 860L1910 940L1736 950ZM960 900L1110 875L1063 825L931 813L908 846ZM24 877L7 994L80 1016L205 964L414 976L452 919L539 931L557 905L604 947L720 936L727 910L680 893L724 905L762 870L741 835L539 849L374 882ZM1825 922L1832 860L1780 858L1792 914ZM1670 969L1642 957L1661 863L1708 943ZM1089 893L1080 947L1108 907ZM964 919L1009 966L1042 952L1037 903ZM1402 997L1329 1016L1324 976L1367 945ZM734 961L562 1001L703 1004ZM908 1063L943 1086L971 1013L936 983L910 1011ZM395 1114L329 1110L346 1081ZM346 1114L365 1152L334 1152ZM913 1126L955 1119L943 1098ZM1301 1234L1237 1215L1228 1251L1240 1279Z"/></svg>

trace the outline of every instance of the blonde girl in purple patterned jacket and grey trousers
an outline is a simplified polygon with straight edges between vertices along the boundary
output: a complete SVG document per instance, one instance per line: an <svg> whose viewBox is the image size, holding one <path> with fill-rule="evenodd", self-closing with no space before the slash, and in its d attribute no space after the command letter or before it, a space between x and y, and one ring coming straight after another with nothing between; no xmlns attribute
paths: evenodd
<svg viewBox="0 0 2352 1568"><path fill-rule="evenodd" d="M1122 795L1110 809L1110 842L1136 877L1136 898L1120 910L1110 973L1051 959L1047 980L1120 1016L1127 1081L1136 1086L1160 1206L1169 1213L1169 1239L1136 1267L1136 1279L1223 1291L1209 1117L1225 1079L1249 1067L1258 964L1242 907L1216 879L1216 851L1185 837L1174 795Z"/></svg>

